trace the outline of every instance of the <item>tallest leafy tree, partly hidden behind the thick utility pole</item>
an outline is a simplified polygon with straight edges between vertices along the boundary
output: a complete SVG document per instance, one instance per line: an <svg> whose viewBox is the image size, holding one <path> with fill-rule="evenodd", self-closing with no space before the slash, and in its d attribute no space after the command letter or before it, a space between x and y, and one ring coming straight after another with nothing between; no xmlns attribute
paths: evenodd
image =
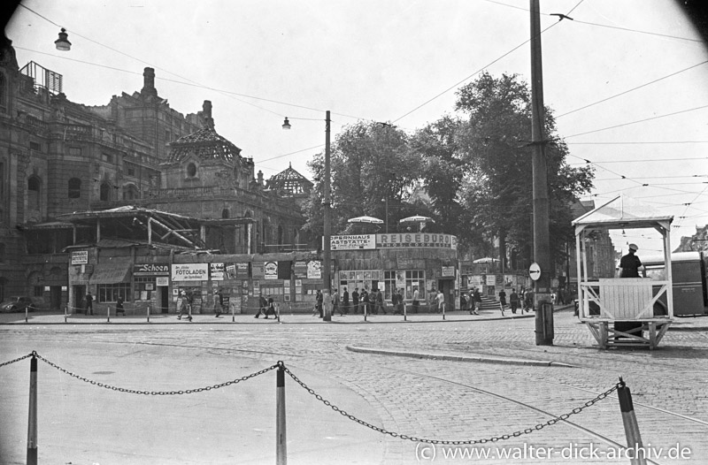
<svg viewBox="0 0 708 465"><path fill-rule="evenodd" d="M499 240L500 255L507 244L526 267L533 256L533 179L531 159L531 97L517 75L493 78L488 72L458 90L456 108L466 115L459 143L466 152L467 176L461 203L471 225L487 240ZM556 141L556 126L546 110L546 137ZM566 164L567 147L554 142L545 147L550 201L550 243L558 251L572 236L570 202L589 192L593 173Z"/></svg>

